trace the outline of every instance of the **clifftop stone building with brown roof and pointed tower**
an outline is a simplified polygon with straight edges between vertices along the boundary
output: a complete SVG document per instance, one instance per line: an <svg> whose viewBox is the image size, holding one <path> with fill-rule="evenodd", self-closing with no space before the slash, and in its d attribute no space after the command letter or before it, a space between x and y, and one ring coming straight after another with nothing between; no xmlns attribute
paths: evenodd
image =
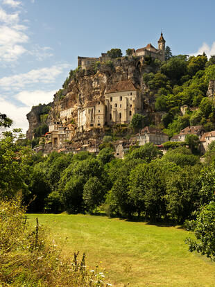
<svg viewBox="0 0 215 287"><path fill-rule="evenodd" d="M132 53L132 55L136 57L144 57L146 55L150 55L153 59L159 59L161 61L165 60L165 43L163 33L160 35L160 39L158 40L158 49L156 49L152 44L148 44L144 48L137 49Z"/></svg>

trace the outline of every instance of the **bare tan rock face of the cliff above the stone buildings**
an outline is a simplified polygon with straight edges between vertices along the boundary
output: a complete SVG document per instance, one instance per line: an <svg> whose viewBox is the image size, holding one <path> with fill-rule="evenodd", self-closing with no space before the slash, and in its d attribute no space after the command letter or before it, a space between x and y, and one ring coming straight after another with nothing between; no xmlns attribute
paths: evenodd
<svg viewBox="0 0 215 287"><path fill-rule="evenodd" d="M74 129L76 129L78 106L85 106L88 102L98 98L105 100L105 92L117 82L123 80L132 81L142 94L144 110L151 112L153 110L151 107L153 99L148 98L146 87L142 80L142 74L146 69L148 72L148 69L150 70L151 68L144 67L144 64L139 62L138 58L132 56L100 63L95 68L80 69L71 78L67 89L62 91L61 96L58 93L54 95L54 101L51 103L51 110L46 124L49 124L51 121L60 121L60 111L74 107L71 118ZM44 105L33 107L31 112L27 114L29 129L26 137L28 139L33 138L33 130L41 125L40 114L43 107Z"/></svg>

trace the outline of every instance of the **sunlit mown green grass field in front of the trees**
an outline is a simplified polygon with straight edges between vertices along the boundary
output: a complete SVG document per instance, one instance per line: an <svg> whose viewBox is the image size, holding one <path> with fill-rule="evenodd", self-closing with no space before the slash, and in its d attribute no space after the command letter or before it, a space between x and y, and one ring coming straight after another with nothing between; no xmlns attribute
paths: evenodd
<svg viewBox="0 0 215 287"><path fill-rule="evenodd" d="M187 251L189 233L118 218L67 214L28 214L29 221L48 226L64 254L87 254L87 266L96 263L108 272L113 286L215 286L215 263Z"/></svg>

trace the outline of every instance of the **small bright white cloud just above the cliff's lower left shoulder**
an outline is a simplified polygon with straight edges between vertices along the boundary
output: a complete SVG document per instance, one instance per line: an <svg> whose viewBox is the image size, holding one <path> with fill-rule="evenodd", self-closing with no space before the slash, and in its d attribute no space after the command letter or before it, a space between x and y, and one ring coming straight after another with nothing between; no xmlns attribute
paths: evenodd
<svg viewBox="0 0 215 287"><path fill-rule="evenodd" d="M50 103L53 101L53 95L55 94L55 90L44 92L41 90L29 92L29 91L22 91L19 92L15 96L17 100L22 102L24 105L31 107L33 105L38 105L39 103Z"/></svg>

